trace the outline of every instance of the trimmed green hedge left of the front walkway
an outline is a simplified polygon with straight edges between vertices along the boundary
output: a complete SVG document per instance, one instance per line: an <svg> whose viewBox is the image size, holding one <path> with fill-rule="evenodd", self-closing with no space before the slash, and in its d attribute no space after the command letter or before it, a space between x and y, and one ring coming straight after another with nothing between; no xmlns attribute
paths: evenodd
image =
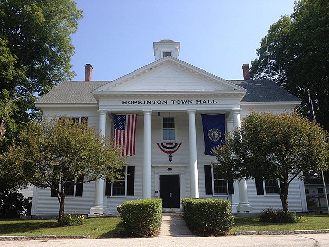
<svg viewBox="0 0 329 247"><path fill-rule="evenodd" d="M126 234L143 237L158 232L162 220L162 199L141 199L118 206Z"/></svg>

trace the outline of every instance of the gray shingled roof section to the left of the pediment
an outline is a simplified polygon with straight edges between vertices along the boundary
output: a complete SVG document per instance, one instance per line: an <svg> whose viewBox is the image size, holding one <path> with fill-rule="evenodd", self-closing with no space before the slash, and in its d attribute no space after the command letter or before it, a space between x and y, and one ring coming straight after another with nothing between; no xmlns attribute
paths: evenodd
<svg viewBox="0 0 329 247"><path fill-rule="evenodd" d="M64 81L38 99L36 104L97 103L90 91L111 81Z"/></svg>

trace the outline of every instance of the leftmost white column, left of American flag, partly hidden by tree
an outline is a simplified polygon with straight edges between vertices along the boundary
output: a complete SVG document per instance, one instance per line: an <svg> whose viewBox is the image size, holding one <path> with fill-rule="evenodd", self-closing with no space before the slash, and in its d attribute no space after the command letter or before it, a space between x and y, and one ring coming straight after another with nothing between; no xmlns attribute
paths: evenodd
<svg viewBox="0 0 329 247"><path fill-rule="evenodd" d="M105 135L106 131L106 111L99 111L99 133ZM90 208L90 214L104 213L104 180L98 179L95 182L94 206Z"/></svg>

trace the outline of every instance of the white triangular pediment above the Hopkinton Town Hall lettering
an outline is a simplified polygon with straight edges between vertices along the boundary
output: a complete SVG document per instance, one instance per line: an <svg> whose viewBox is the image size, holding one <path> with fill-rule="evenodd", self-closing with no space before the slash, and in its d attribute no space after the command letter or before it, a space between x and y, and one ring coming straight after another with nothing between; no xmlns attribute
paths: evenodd
<svg viewBox="0 0 329 247"><path fill-rule="evenodd" d="M97 92L245 92L240 86L170 56L107 83Z"/></svg>

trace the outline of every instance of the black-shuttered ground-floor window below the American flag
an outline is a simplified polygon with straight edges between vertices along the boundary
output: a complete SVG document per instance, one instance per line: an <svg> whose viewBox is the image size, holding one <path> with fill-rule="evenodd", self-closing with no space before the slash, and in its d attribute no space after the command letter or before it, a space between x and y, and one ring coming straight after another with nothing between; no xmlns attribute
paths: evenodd
<svg viewBox="0 0 329 247"><path fill-rule="evenodd" d="M125 166L121 172L125 172L124 179L106 182L106 196L134 196L135 166Z"/></svg>

